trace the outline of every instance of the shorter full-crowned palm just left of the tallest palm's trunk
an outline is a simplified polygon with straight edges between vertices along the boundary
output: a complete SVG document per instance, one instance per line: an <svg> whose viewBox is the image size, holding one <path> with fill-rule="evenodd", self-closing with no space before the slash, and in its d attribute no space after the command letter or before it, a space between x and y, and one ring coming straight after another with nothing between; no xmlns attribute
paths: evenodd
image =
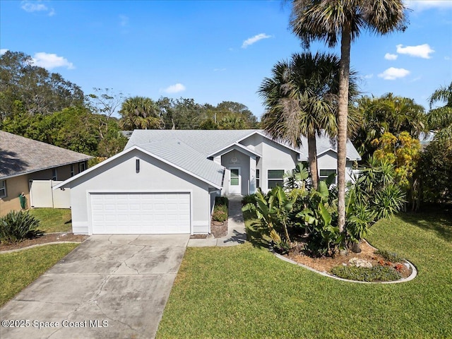
<svg viewBox="0 0 452 339"><path fill-rule="evenodd" d="M293 54L273 66L258 90L266 105L263 129L273 138L299 146L308 140L309 168L314 189L319 182L316 136L325 130L335 136L338 94L338 57L332 54ZM355 83L351 91L355 93ZM352 122L352 120L350 120Z"/></svg>

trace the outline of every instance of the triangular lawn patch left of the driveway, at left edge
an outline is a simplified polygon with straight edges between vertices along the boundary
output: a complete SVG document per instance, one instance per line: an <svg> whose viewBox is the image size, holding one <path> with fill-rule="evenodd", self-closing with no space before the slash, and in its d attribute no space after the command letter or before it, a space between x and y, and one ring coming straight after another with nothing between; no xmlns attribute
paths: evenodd
<svg viewBox="0 0 452 339"><path fill-rule="evenodd" d="M78 244L52 244L0 254L0 306L30 285L76 246Z"/></svg>

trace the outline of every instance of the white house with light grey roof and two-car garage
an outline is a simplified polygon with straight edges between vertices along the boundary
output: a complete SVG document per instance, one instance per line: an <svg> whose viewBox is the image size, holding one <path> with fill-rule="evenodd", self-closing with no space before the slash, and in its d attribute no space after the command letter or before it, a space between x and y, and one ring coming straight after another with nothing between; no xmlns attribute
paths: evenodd
<svg viewBox="0 0 452 339"><path fill-rule="evenodd" d="M320 174L327 177L336 151L328 138L318 146ZM55 189L71 189L76 234L206 234L215 196L282 184L285 171L307 161L306 148L261 130L136 130L121 153ZM351 143L347 153L350 175L360 157Z"/></svg>

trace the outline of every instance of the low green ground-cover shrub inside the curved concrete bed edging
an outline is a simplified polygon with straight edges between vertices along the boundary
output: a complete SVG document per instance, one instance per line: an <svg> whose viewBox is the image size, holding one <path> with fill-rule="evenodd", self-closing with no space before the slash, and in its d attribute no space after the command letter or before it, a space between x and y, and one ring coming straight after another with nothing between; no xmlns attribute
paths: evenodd
<svg viewBox="0 0 452 339"><path fill-rule="evenodd" d="M357 281L394 281L402 278L397 270L389 266L336 266L331 269L331 273L339 278Z"/></svg>

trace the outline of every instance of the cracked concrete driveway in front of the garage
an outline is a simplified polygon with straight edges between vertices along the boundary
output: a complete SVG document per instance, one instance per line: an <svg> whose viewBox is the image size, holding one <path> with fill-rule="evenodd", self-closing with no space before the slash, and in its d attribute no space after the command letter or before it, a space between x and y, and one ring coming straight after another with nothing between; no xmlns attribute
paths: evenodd
<svg viewBox="0 0 452 339"><path fill-rule="evenodd" d="M0 309L0 338L154 338L188 241L88 238Z"/></svg>

